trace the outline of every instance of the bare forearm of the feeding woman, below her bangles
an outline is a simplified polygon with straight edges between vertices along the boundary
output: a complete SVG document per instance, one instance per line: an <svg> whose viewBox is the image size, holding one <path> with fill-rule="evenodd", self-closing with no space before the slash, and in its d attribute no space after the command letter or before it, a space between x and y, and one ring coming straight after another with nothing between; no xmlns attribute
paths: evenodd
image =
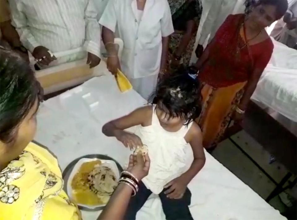
<svg viewBox="0 0 297 220"><path fill-rule="evenodd" d="M124 219L131 194L131 187L123 183L119 184L97 220Z"/></svg>

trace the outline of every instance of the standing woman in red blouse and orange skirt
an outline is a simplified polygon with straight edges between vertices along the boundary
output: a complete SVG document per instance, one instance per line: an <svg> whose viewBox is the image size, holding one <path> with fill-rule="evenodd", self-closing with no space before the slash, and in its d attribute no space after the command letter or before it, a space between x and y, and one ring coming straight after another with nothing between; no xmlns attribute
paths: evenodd
<svg viewBox="0 0 297 220"><path fill-rule="evenodd" d="M287 0L258 0L246 14L229 15L196 62L203 96L196 122L205 148L216 146L231 117L242 119L273 51L265 28L287 7Z"/></svg>

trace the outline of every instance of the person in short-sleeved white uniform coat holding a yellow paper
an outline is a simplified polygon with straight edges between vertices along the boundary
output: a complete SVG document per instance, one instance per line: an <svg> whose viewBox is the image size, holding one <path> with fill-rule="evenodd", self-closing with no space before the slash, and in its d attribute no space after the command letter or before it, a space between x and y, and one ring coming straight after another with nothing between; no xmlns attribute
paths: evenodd
<svg viewBox="0 0 297 220"><path fill-rule="evenodd" d="M134 90L148 99L159 73L166 73L169 36L174 32L167 0L109 0L99 23L109 53L107 68L121 69ZM114 49L114 32L124 42L121 61Z"/></svg>

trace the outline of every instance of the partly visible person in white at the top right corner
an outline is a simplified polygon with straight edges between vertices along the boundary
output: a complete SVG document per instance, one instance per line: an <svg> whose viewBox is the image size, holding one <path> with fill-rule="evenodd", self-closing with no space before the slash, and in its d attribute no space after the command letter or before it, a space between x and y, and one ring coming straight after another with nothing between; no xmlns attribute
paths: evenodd
<svg viewBox="0 0 297 220"><path fill-rule="evenodd" d="M297 49L297 0L288 1L288 11L276 23L270 36L275 40Z"/></svg>

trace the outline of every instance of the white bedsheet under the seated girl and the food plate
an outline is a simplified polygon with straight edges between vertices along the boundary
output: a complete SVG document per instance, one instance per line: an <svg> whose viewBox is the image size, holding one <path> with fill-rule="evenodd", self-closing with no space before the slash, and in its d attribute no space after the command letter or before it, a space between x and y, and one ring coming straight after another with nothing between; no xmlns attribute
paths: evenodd
<svg viewBox="0 0 297 220"><path fill-rule="evenodd" d="M101 127L143 104L145 100L133 90L121 94L113 76L93 78L41 105L35 140L56 154L62 171L85 154L107 154L125 167L131 152L115 138L105 137ZM189 184L194 219L286 219L210 154L205 154L204 168ZM82 214L83 219L93 220L99 213ZM149 199L137 219L165 219L160 200Z"/></svg>

